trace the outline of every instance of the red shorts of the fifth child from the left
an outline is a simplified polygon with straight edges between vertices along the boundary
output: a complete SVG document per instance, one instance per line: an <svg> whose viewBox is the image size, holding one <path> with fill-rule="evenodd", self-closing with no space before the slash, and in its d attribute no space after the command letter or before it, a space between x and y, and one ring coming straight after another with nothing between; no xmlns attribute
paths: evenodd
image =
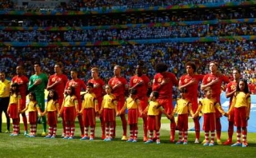
<svg viewBox="0 0 256 158"><path fill-rule="evenodd" d="M90 108L90 109L83 109L82 111L82 117L83 117L83 124L85 127L95 127L96 120L95 120L95 109Z"/></svg>

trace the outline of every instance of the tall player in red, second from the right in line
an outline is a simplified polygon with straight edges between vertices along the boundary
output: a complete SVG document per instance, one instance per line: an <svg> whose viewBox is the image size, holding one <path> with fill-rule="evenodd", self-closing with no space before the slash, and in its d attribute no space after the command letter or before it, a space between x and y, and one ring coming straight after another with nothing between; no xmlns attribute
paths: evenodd
<svg viewBox="0 0 256 158"><path fill-rule="evenodd" d="M206 74L202 79L201 89L204 90L207 87L212 89L213 94L212 97L218 101L218 104L221 105L220 97L222 93L222 82L229 83L229 77L224 76L222 73L218 72L218 63L216 61L210 61L210 73ZM220 117L222 117L221 113L218 113L216 110L216 133L217 133L217 144L222 144L221 133L222 133L222 124Z"/></svg>

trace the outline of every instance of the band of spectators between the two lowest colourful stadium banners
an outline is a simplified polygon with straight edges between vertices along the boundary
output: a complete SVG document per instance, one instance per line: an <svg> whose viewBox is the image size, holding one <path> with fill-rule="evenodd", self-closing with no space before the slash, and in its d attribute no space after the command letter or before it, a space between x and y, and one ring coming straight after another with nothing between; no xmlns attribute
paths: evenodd
<svg viewBox="0 0 256 158"><path fill-rule="evenodd" d="M54 42L54 41L116 41L160 38L203 38L256 35L256 23L218 25L159 26L111 30L68 31L3 31L0 41Z"/></svg>

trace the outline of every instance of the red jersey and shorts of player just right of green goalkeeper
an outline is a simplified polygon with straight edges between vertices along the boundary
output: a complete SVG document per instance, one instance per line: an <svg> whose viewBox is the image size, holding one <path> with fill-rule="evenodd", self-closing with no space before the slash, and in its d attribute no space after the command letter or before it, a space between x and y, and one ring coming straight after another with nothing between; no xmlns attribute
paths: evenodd
<svg viewBox="0 0 256 158"><path fill-rule="evenodd" d="M62 105L62 101L64 98L64 90L67 82L67 77L65 74L53 74L50 75L48 85L53 85L55 81L60 81L58 82L57 85L54 85L54 90L58 93L58 98L59 98L59 104ZM61 102L60 102L61 101Z"/></svg>

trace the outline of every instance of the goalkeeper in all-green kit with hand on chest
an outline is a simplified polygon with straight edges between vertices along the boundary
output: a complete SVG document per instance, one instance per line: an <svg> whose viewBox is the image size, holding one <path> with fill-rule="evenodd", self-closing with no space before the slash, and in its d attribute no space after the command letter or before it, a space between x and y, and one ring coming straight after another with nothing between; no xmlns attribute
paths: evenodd
<svg viewBox="0 0 256 158"><path fill-rule="evenodd" d="M48 77L41 71L41 64L34 63L34 75L30 77L28 90L35 93L41 112L45 111L45 89L48 83ZM42 136L46 136L46 116L42 116Z"/></svg>

